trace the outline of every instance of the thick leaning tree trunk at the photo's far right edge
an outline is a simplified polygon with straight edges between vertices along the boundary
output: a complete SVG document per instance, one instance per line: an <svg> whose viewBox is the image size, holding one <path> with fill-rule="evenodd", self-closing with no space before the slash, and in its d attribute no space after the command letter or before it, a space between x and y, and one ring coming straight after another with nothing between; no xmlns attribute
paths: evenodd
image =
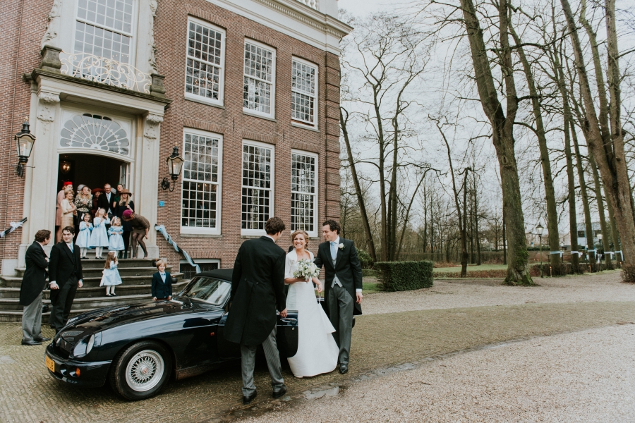
<svg viewBox="0 0 635 423"><path fill-rule="evenodd" d="M635 264L635 220L631 207L631 191L623 140L613 140L612 143L608 144L603 140L598 117L595 114L593 94L586 75L583 51L573 13L571 13L571 6L569 5L569 0L560 0L560 2L564 10L564 16L567 18L580 90L584 108L586 109L588 147L596 160L602 179L605 182L605 188L607 188L607 199L611 202L615 213L615 221L622 239L624 263Z"/></svg>

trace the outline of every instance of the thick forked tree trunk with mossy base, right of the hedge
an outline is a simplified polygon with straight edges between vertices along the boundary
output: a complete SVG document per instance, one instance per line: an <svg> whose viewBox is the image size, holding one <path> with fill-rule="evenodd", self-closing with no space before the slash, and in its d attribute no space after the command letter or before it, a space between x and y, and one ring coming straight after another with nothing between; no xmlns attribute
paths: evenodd
<svg viewBox="0 0 635 423"><path fill-rule="evenodd" d="M512 51L509 48L507 33L507 0L499 2L501 70L504 76L507 116L503 104L498 99L492 69L483 41L473 0L461 0L464 23L470 43L471 57L476 78L476 86L485 115L492 125L492 142L500 166L500 178L503 192L503 209L509 240L509 264L505 283L510 285L533 285L529 274L525 222L523 216L520 183L516 156L514 154L514 120L518 110L518 97L514 83Z"/></svg>

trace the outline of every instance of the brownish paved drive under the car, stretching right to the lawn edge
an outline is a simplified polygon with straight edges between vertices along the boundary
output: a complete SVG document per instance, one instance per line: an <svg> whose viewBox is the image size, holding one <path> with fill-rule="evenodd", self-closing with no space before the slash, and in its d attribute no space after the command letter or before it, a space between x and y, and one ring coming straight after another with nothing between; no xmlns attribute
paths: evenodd
<svg viewBox="0 0 635 423"><path fill-rule="evenodd" d="M0 324L0 422L198 422L254 416L270 419L278 413L267 410L301 412L303 407L310 409L311 404L323 406L329 401L306 403L306 397L335 391L352 395L361 384L396 377L381 375L397 369L412 369L404 374L416 374L430 357L635 321L635 286L620 283L617 273L541 282L543 286L536 288L509 288L490 286L487 281L443 281L427 290L367 295L366 314L353 330L349 374L334 372L295 379L287 369L284 376L289 396L274 401L269 396L266 367L261 365L255 376L259 397L250 407L240 403L237 365L173 382L159 396L137 403L121 400L109 388L73 388L46 374L43 346L21 346L20 326ZM571 297L569 302L567 296ZM619 326L622 327L628 325ZM510 358L514 354L510 353ZM452 386L461 390L459 382L456 379ZM335 400L346 400L346 395ZM451 405L447 407L452 409ZM310 415L298 416L297 419L310 419Z"/></svg>

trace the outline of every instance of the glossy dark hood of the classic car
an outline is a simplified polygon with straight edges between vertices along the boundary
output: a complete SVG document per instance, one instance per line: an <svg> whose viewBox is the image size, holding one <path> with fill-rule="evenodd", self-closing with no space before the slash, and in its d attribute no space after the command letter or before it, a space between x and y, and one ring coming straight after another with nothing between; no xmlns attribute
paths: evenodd
<svg viewBox="0 0 635 423"><path fill-rule="evenodd" d="M180 301L152 301L138 302L132 305L109 307L99 309L86 314L80 314L78 319L72 321L61 331L61 336L66 338L67 331L96 332L109 329L122 324L130 324L136 321L148 321L176 314L195 314L208 311L209 308L199 305L197 302L188 304Z"/></svg>

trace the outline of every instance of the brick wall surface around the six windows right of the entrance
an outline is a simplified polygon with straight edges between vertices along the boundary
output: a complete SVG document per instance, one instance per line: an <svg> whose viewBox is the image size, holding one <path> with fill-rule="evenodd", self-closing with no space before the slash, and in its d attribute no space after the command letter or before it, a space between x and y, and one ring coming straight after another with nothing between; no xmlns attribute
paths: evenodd
<svg viewBox="0 0 635 423"><path fill-rule="evenodd" d="M226 31L224 109L184 98L187 20L193 16ZM276 121L243 114L243 55L246 38L276 50ZM207 1L162 1L155 20L159 72L165 75L166 96L173 102L161 125L161 155L167 157L176 142L181 149L183 127L210 130L223 135L222 235L181 237L181 178L174 192L159 190L159 223L193 258L221 259L222 267L234 264L241 238L241 160L243 139L275 146L274 214L290 228L291 148L319 154L318 227L325 219L339 218L339 59L334 54L276 32L263 25L214 6ZM320 132L291 125L291 57L319 66L318 128ZM159 181L166 176L159 170ZM157 181L157 183L159 182ZM320 233L320 231L318 231ZM313 240L315 250L319 241ZM181 257L164 240L157 240L162 255L176 266ZM289 231L278 243L291 245Z"/></svg>

